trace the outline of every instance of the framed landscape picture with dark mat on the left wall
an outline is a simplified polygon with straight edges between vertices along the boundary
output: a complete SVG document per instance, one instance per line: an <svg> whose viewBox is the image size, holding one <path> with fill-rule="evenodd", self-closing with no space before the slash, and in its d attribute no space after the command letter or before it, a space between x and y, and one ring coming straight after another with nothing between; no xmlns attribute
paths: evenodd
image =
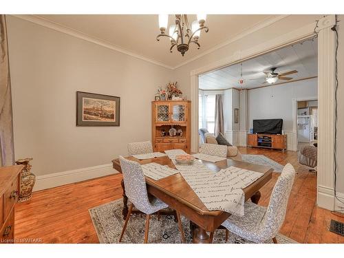
<svg viewBox="0 0 344 258"><path fill-rule="evenodd" d="M76 92L76 126L120 126L120 97Z"/></svg>

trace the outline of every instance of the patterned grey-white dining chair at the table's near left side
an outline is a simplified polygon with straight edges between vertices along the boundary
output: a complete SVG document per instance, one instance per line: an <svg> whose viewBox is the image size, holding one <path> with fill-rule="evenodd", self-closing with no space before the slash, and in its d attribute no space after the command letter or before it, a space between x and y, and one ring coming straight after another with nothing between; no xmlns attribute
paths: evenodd
<svg viewBox="0 0 344 258"><path fill-rule="evenodd" d="M156 213L164 208L167 208L169 205L165 204L158 198L150 198L149 200L147 193L146 181L144 179L144 174L142 167L138 162L127 160L120 156L120 167L122 169L123 181L125 184L125 194L128 197L129 202L129 212L127 218L125 219L125 224L120 234L119 242L122 241L122 237L127 228L131 211L133 211L133 206L135 206L139 211L146 214L146 224L144 230L144 244L148 242L148 232L149 232L149 219L151 214ZM178 228L180 234L182 235L182 242L185 242L184 231L182 228L182 220L180 219L180 213L176 211L178 218Z"/></svg>

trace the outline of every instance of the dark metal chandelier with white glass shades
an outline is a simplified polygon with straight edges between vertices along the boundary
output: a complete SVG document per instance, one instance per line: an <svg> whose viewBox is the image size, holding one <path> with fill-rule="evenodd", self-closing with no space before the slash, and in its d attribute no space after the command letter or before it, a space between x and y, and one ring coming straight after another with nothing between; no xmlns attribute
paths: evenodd
<svg viewBox="0 0 344 258"><path fill-rule="evenodd" d="M169 23L168 14L159 15L160 34L156 37L159 41L160 37L167 36L171 41L170 52L172 53L173 47L184 56L185 52L189 50L189 45L194 43L197 45L197 50L201 45L198 43L200 39L201 30L208 32L208 28L204 26L206 22L206 14L197 14L197 21L190 23L186 14L175 14L175 24L169 27L169 34L166 34L166 28Z"/></svg>

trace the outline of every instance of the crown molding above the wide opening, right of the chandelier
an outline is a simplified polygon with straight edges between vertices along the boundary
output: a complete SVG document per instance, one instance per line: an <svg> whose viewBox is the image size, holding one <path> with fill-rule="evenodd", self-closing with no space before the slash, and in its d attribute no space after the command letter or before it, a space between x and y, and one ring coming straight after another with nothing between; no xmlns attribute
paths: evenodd
<svg viewBox="0 0 344 258"><path fill-rule="evenodd" d="M266 28L269 25L276 23L277 21L281 21L281 19L285 19L288 16L290 16L290 14L278 15L277 17L266 19L265 21L257 23L256 25L253 25L251 28L245 30L244 32L237 34L233 38L228 39L227 41L224 41L222 43L219 43L218 45L215 45L214 47L211 47L210 49L202 52L202 54L198 54L197 56L194 56L193 58L190 58L189 60L186 60L186 61L180 63L179 65L176 65L175 67L173 67L173 69L177 69L178 67L186 65L187 63L190 63L192 61L195 61L196 59L198 59L202 56L205 56L206 54L210 54L211 52L214 52L215 50L218 50L221 47L224 47L226 45L229 45L230 43L238 41L239 39L244 38L244 36L247 36L248 34L251 34L253 32L257 32L257 30L261 30L263 28Z"/></svg>

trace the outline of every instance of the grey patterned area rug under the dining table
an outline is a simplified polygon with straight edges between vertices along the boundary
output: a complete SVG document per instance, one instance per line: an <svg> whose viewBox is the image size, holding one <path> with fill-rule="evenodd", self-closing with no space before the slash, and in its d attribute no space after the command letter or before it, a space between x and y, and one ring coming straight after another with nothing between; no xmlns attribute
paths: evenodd
<svg viewBox="0 0 344 258"><path fill-rule="evenodd" d="M102 244L118 244L118 239L123 228L124 220L122 216L122 199L109 202L89 209L94 228ZM127 230L121 243L141 244L144 240L145 215L131 215ZM189 228L189 219L182 216L182 224L186 242L191 244L192 237ZM277 241L281 244L294 244L296 241L278 234ZM181 243L178 224L174 222L174 217L161 215L160 221L156 215L152 215L149 223L148 241L151 244L179 244ZM272 241L271 241L272 242ZM270 241L268 243L271 243ZM242 239L233 233L229 234L228 241L225 241L225 230L216 230L213 243L222 244L249 244L250 241Z"/></svg>

